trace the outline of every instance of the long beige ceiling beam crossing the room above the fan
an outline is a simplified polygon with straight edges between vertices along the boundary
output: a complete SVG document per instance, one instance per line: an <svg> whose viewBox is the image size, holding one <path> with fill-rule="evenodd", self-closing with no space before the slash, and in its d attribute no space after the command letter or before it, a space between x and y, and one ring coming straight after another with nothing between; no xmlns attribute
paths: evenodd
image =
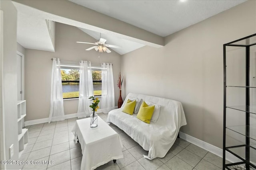
<svg viewBox="0 0 256 170"><path fill-rule="evenodd" d="M163 47L164 38L129 23L106 16L68 0L13 0L21 8L30 8L45 19L127 39L151 47ZM31 9L34 8L34 9Z"/></svg>

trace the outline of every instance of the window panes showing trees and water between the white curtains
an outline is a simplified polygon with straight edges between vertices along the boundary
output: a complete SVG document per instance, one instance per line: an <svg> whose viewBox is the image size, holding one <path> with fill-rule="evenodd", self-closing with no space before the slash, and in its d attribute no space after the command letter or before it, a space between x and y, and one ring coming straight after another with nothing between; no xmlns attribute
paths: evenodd
<svg viewBox="0 0 256 170"><path fill-rule="evenodd" d="M101 96L102 94L101 72L98 68L92 68L94 96ZM67 66L61 67L63 99L79 97L79 78L79 69L72 68L72 66L70 69Z"/></svg>

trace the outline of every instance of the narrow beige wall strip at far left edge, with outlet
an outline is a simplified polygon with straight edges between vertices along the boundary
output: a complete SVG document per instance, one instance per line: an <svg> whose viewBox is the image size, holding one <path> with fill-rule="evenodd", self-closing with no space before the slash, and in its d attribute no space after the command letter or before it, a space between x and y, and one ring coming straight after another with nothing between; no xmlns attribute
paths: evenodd
<svg viewBox="0 0 256 170"><path fill-rule="evenodd" d="M17 11L11 1L0 1L4 12L3 37L3 81L4 81L4 130L6 160L18 160L17 125L17 70L16 70L16 32ZM14 144L14 156L10 159L9 147ZM16 165L6 165L6 169L16 169Z"/></svg>

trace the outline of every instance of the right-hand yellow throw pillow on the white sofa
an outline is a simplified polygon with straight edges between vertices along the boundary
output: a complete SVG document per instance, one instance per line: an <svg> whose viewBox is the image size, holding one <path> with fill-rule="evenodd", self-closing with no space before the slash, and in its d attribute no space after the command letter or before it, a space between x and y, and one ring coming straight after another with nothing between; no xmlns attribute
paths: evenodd
<svg viewBox="0 0 256 170"><path fill-rule="evenodd" d="M146 102L142 102L140 106L140 110L138 112L137 118L141 121L144 121L145 123L150 123L151 117L153 115L155 106L148 106Z"/></svg>

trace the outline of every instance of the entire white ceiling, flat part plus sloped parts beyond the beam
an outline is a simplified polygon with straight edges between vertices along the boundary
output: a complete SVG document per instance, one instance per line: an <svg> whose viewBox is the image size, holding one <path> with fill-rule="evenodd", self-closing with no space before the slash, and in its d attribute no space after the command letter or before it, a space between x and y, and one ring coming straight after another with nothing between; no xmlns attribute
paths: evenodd
<svg viewBox="0 0 256 170"><path fill-rule="evenodd" d="M246 0L70 1L165 37L190 25L205 20L206 18L214 16L224 10L232 8ZM14 5L18 10L18 43L28 49L54 51L45 21L45 19L49 18L47 18L46 15L44 16L42 11L35 8L28 8L17 2L14 2ZM84 28L79 29L94 37L95 40L100 38L100 33L96 31ZM110 34L102 34L102 38L107 39L107 44L122 46L122 49L112 48L112 50L116 51L120 55L146 45L128 41L127 39L120 39Z"/></svg>

